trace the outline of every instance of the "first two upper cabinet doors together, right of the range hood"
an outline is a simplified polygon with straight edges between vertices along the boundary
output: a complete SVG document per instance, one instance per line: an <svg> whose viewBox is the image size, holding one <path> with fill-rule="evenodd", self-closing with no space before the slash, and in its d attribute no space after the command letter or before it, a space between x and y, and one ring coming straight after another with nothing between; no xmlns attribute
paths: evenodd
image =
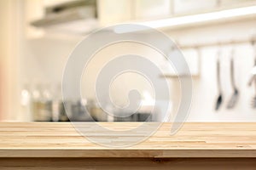
<svg viewBox="0 0 256 170"><path fill-rule="evenodd" d="M135 20L154 20L172 14L171 0L98 0L102 26Z"/></svg>

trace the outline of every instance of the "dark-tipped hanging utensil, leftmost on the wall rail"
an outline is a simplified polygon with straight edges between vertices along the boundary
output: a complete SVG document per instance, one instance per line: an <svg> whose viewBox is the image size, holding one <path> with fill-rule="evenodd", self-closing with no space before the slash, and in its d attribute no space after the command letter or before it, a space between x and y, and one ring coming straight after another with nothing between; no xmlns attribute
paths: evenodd
<svg viewBox="0 0 256 170"><path fill-rule="evenodd" d="M223 94L221 89L221 82L220 82L220 50L218 50L218 59L217 59L217 85L218 85L218 98L215 105L215 111L218 111L220 105L223 102Z"/></svg>

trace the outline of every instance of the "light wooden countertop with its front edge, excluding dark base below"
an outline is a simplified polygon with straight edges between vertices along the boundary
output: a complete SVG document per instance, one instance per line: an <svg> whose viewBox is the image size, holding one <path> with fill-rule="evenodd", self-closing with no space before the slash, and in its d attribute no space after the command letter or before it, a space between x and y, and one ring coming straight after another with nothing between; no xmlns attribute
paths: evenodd
<svg viewBox="0 0 256 170"><path fill-rule="evenodd" d="M86 129L92 122L81 124ZM136 128L138 122L99 122L114 130ZM150 127L150 122L147 123ZM171 123L129 147L106 147L86 139L69 122L1 122L0 157L256 157L256 123L185 123L171 135ZM91 130L94 138L114 142L122 137ZM125 141L143 136L126 133Z"/></svg>

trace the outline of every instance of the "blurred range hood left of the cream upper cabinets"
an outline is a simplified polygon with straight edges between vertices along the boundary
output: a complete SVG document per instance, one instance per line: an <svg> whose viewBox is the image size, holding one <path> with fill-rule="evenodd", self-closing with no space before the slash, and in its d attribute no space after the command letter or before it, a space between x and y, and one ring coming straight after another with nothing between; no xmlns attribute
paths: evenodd
<svg viewBox="0 0 256 170"><path fill-rule="evenodd" d="M32 26L54 31L86 33L98 26L96 0L76 0L44 8L44 18L33 20Z"/></svg>

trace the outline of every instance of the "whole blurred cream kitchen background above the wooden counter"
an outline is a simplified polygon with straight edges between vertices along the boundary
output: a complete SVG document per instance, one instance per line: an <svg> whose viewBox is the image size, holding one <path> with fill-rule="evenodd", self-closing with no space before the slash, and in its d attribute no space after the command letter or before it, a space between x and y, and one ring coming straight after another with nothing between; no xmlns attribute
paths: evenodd
<svg viewBox="0 0 256 170"><path fill-rule="evenodd" d="M67 122L61 78L76 44L102 27L137 23L163 31L182 50L193 78L187 121L256 122L256 0L2 0L0 20L0 121ZM129 51L152 60L160 55L128 42L103 49L102 55ZM158 60L170 82L170 111L175 112L181 92L166 63ZM117 87L129 82L123 79ZM123 88L113 92L120 105L125 105L119 99ZM67 101L74 120L164 121L160 113L148 116L149 104L133 116L105 116L93 95ZM150 103L150 93L143 97Z"/></svg>

